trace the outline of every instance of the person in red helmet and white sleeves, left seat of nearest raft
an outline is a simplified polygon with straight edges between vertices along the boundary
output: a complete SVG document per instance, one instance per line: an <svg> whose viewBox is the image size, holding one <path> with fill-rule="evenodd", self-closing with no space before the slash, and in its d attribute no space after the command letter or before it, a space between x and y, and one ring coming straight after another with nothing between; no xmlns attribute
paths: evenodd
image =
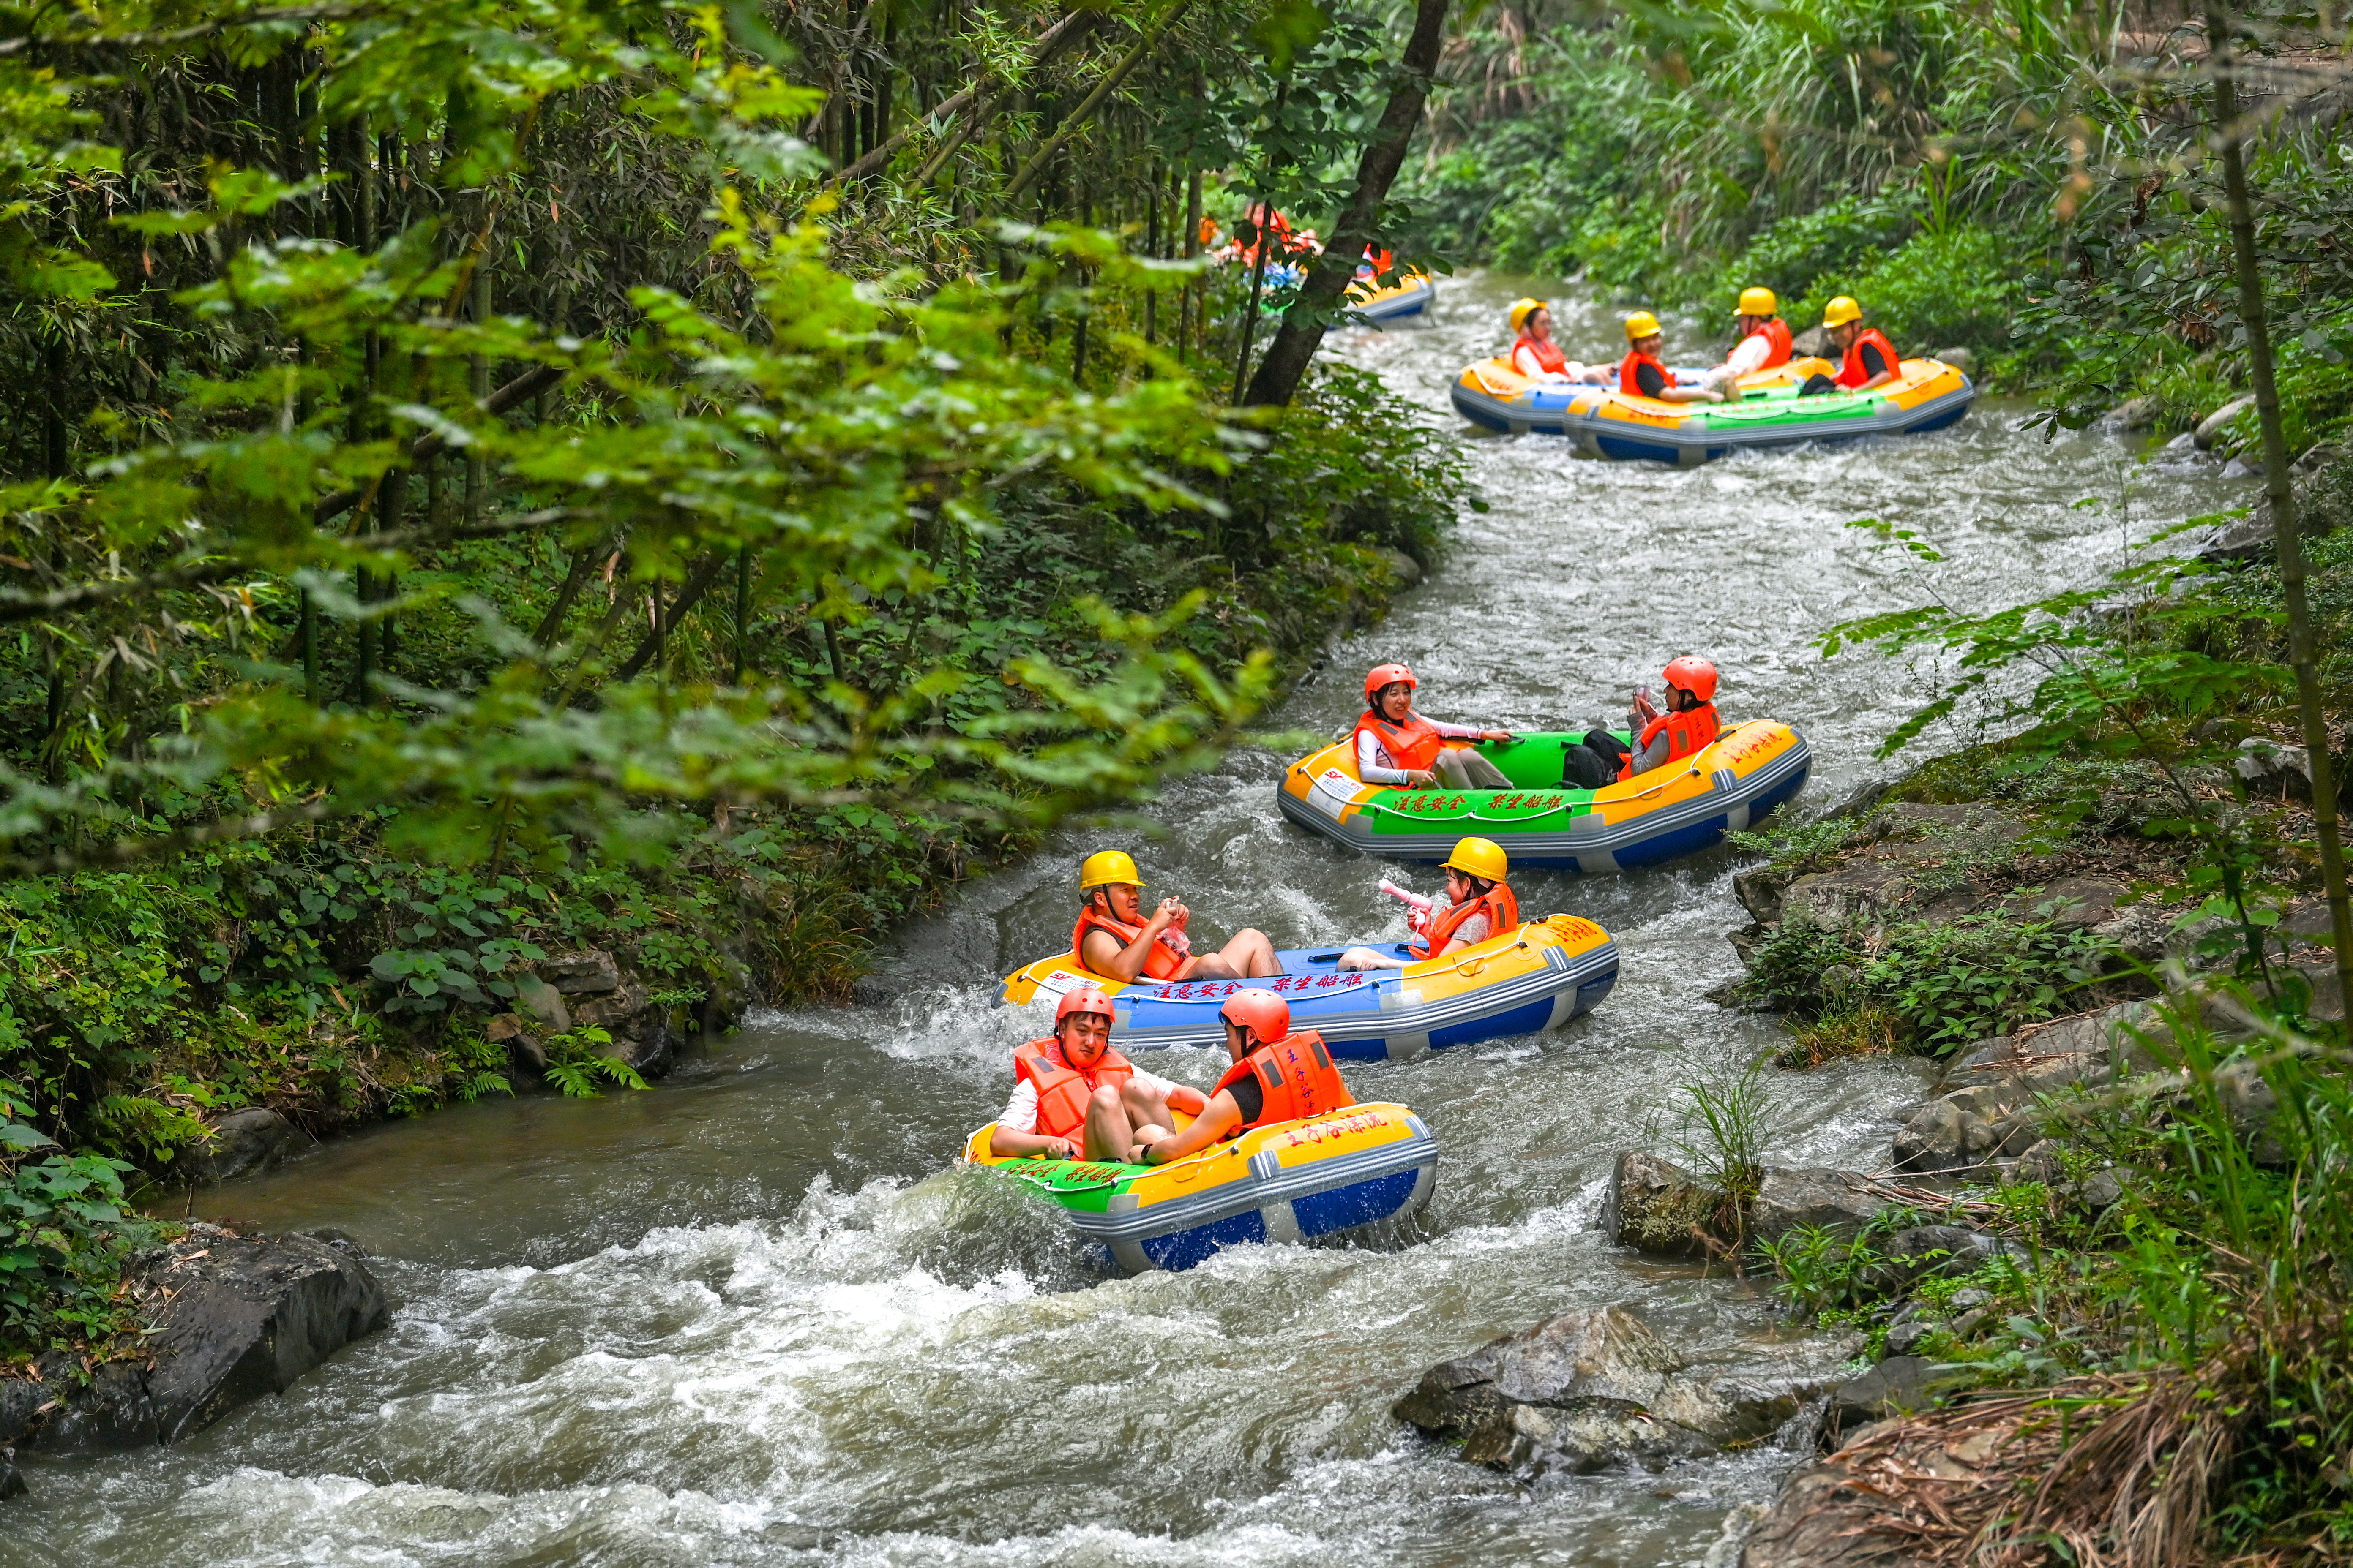
<svg viewBox="0 0 2353 1568"><path fill-rule="evenodd" d="M1014 1046L1014 1095L988 1133L998 1159L1122 1161L1139 1138L1165 1138L1172 1110L1198 1117L1209 1098L1144 1072L1111 1048L1111 997L1092 985L1054 1009L1054 1032Z"/></svg>

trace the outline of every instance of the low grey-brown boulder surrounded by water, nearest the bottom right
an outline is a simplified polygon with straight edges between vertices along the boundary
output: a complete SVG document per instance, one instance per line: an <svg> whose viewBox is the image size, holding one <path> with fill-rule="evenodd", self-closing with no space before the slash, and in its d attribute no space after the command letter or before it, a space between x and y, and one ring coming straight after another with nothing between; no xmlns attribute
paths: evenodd
<svg viewBox="0 0 2353 1568"><path fill-rule="evenodd" d="M1473 1465L1588 1474L1758 1441L1817 1396L1807 1380L1694 1373L1633 1312L1602 1307L1440 1361L1395 1413Z"/></svg>

